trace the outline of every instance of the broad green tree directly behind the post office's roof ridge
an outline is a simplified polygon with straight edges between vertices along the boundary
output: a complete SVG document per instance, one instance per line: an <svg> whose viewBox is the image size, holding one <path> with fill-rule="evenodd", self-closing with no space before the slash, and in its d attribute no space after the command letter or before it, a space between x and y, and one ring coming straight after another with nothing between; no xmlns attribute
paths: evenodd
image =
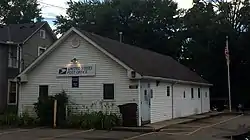
<svg viewBox="0 0 250 140"><path fill-rule="evenodd" d="M66 16L55 21L57 33L78 27L112 39L177 58L180 29L177 3L172 0L111 0L68 2Z"/></svg>

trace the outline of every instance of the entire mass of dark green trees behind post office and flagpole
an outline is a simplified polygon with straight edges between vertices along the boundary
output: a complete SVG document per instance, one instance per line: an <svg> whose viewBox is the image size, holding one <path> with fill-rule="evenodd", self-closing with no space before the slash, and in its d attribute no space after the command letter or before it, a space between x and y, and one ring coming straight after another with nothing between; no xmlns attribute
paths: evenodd
<svg viewBox="0 0 250 140"><path fill-rule="evenodd" d="M250 4L248 0L194 0L187 10L173 0L68 2L57 33L70 27L167 54L214 84L212 96L227 97L224 55L229 36L233 99L250 100ZM240 95L240 96L239 96ZM241 97L241 99L239 99Z"/></svg>

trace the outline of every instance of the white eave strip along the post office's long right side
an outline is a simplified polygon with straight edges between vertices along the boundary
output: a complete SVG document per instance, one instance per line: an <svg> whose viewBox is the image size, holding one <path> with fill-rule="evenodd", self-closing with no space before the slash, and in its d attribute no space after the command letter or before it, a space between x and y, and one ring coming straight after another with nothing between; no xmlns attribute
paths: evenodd
<svg viewBox="0 0 250 140"><path fill-rule="evenodd" d="M192 85L202 85L202 86L213 86L210 83L200 83L200 82L193 82L193 81L185 81L185 80L178 80L178 79L171 79L171 78L163 78L163 77L154 77L154 76L142 76L142 79L151 79L151 80L162 80L162 81L169 81L173 83L180 83L180 84L192 84Z"/></svg>

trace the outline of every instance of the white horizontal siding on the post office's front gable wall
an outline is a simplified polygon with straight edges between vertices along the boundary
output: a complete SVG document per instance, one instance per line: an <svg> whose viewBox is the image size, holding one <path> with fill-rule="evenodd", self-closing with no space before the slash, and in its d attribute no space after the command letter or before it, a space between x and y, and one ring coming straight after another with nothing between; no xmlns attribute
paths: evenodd
<svg viewBox="0 0 250 140"><path fill-rule="evenodd" d="M72 40L78 37L80 46L72 48ZM79 88L72 88L71 77L57 77L59 67L77 58L81 64L96 64L96 76L80 77ZM79 106L90 106L94 102L103 100L103 84L114 83L114 103L116 106L125 103L138 103L138 89L130 89L129 85L138 81L130 81L127 70L104 53L100 52L87 41L76 34L72 34L58 48L47 56L33 71L28 73L28 83L21 85L20 111L24 106L32 106L38 98L39 85L49 85L49 95L65 90L70 100Z"/></svg>

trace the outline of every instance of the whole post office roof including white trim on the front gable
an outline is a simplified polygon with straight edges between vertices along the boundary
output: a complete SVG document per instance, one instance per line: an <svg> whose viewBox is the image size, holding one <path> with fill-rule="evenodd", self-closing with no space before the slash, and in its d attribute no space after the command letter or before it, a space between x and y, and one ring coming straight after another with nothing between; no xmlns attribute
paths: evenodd
<svg viewBox="0 0 250 140"><path fill-rule="evenodd" d="M39 62L46 58L63 40L72 32L77 33L97 49L108 55L111 59L121 64L124 68L134 70L142 77L153 79L168 79L172 81L181 81L190 84L211 85L208 81L201 78L198 74L191 71L186 66L178 63L170 56L162 55L136 46L128 45L106 37L102 37L83 30L71 28L52 46L50 46L42 55L31 63L21 74L32 70Z"/></svg>

